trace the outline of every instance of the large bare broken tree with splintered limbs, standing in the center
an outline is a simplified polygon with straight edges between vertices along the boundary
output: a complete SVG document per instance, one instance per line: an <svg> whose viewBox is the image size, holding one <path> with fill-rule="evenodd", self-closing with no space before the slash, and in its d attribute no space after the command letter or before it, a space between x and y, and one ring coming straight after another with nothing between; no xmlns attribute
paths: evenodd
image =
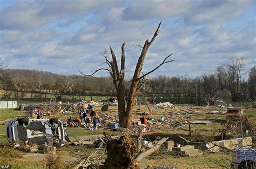
<svg viewBox="0 0 256 169"><path fill-rule="evenodd" d="M85 76L92 76L99 70L106 70L110 73L114 87L117 91L117 98L118 98L118 112L119 112L119 125L120 127L131 128L131 118L132 118L132 109L134 103L136 102L136 97L139 93L139 90L144 86L144 84L149 80L146 78L147 75L156 71L160 66L166 63L170 63L173 60L167 60L170 58L172 53L164 58L163 62L161 62L157 67L153 70L143 73L143 63L146 58L147 50L149 50L151 44L154 42L154 39L158 36L159 29L160 29L161 22L158 25L156 32L154 33L151 40L147 39L144 43L144 46L140 46L142 48L142 52L138 58L138 62L136 65L136 69L134 71L134 75L131 81L131 87L129 91L129 97L127 101L127 106L125 107L125 43L122 44L122 56L121 56L121 69L119 71L119 67L117 64L116 54L114 53L113 49L110 47L110 52L112 56L112 60L109 60L107 57L107 52L105 50L105 63L109 66L108 68L100 68L93 72L91 75ZM80 71L80 73L82 73ZM84 75L84 73L82 73Z"/></svg>

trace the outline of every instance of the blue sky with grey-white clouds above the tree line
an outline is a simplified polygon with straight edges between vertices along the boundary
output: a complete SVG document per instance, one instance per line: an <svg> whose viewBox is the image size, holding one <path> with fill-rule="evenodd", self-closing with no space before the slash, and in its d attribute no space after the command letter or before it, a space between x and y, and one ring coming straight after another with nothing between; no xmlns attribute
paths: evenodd
<svg viewBox="0 0 256 169"><path fill-rule="evenodd" d="M256 61L255 6L247 0L0 0L0 58L10 69L90 74L106 67L103 51L110 46L120 61L125 42L132 76L138 45L151 39L162 21L144 72L173 53L175 61L151 76L210 74L235 56L245 57L246 73Z"/></svg>

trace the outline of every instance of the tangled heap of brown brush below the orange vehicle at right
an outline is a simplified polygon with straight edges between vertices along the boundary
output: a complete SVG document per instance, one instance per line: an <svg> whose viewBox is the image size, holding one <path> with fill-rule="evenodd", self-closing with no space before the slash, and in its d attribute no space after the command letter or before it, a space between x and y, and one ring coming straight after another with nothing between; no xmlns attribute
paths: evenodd
<svg viewBox="0 0 256 169"><path fill-rule="evenodd" d="M220 134L221 139L230 139L234 136L254 136L256 125L248 116L228 118Z"/></svg>

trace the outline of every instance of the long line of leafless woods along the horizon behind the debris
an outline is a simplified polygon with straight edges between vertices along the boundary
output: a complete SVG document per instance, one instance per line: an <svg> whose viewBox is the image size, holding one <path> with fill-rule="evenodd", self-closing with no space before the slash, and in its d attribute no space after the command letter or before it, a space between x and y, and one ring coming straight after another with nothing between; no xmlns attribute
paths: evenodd
<svg viewBox="0 0 256 169"><path fill-rule="evenodd" d="M198 77L188 75L155 76L140 89L140 96L156 97L158 102L204 103L212 99L226 102L255 101L256 67L244 72L244 57L233 57L220 65L212 74ZM83 75L58 75L48 71L5 69L0 60L0 89L2 98L46 98L47 94L62 98L74 96L116 96L113 79L85 77ZM129 94L131 79L125 82L125 95Z"/></svg>

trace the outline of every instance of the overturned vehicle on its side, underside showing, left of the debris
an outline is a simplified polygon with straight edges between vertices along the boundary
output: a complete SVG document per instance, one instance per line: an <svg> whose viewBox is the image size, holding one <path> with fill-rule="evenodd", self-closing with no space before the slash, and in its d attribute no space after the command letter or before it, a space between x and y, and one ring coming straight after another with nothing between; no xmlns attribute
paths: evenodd
<svg viewBox="0 0 256 169"><path fill-rule="evenodd" d="M12 119L7 126L9 143L64 146L62 121L53 119Z"/></svg>

